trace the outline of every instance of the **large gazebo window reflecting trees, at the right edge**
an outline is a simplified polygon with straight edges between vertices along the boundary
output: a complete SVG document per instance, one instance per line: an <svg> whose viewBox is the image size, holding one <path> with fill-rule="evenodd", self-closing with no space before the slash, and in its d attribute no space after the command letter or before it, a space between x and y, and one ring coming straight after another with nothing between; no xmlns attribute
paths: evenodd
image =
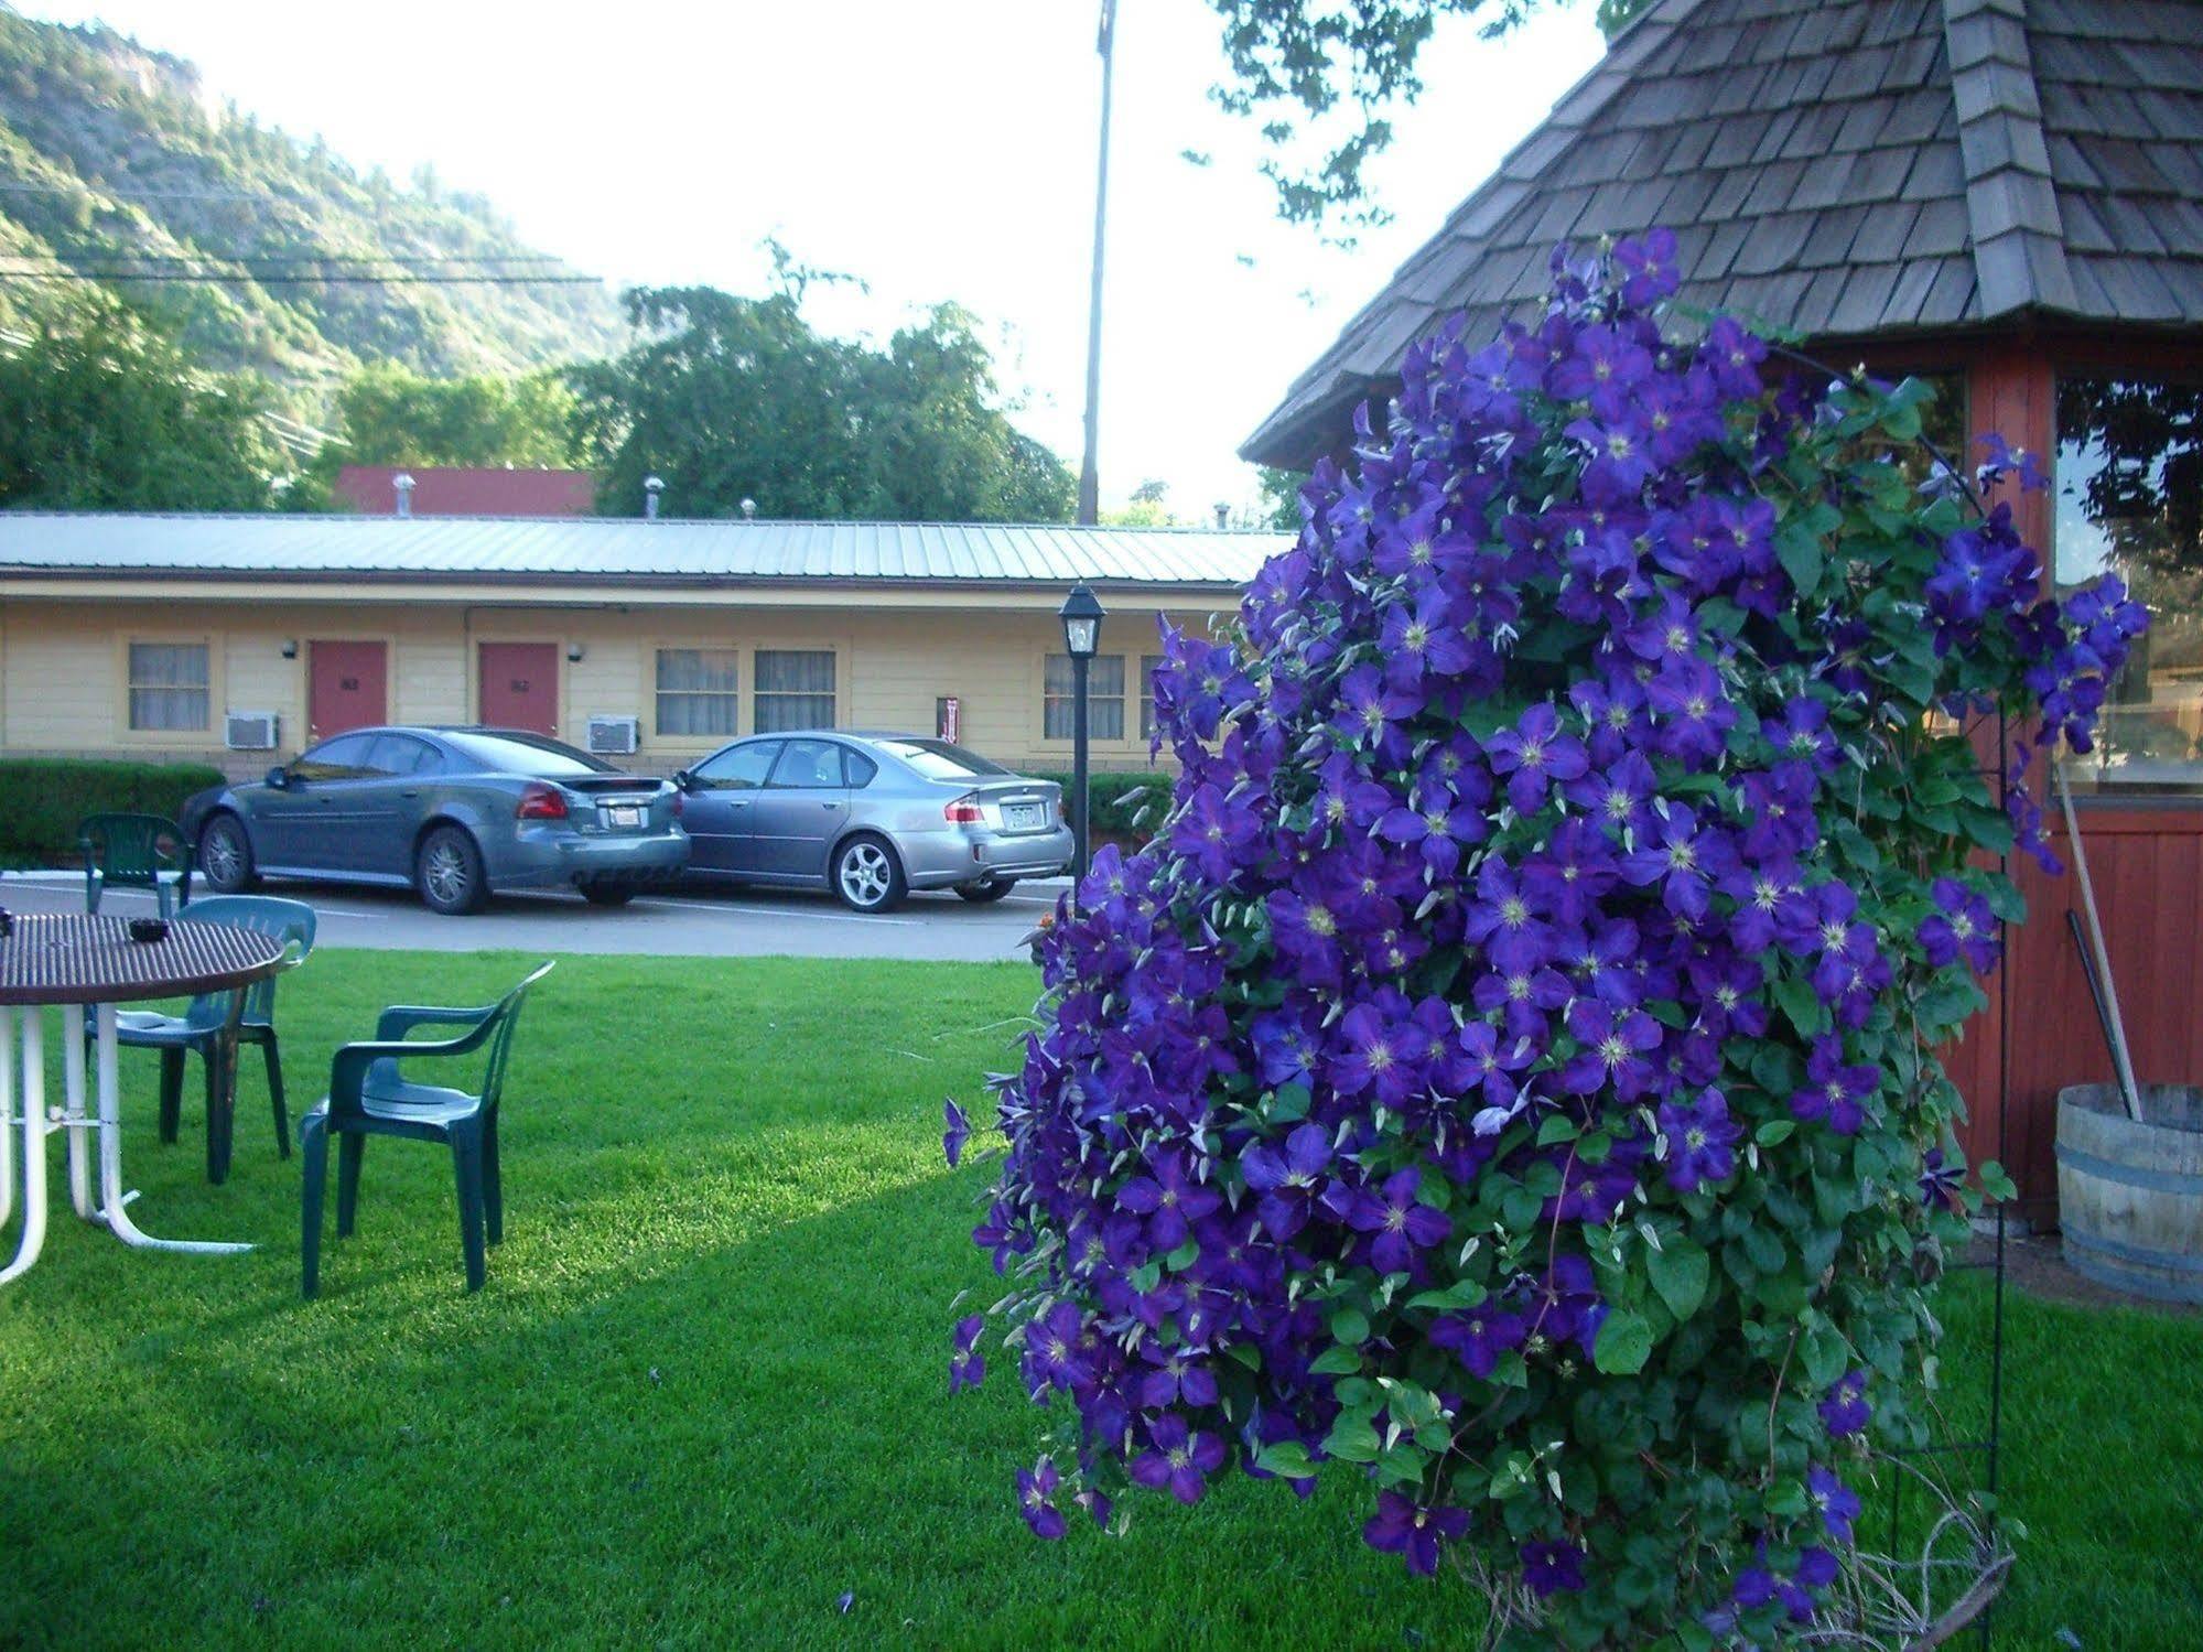
<svg viewBox="0 0 2203 1652"><path fill-rule="evenodd" d="M2150 610L2075 789L2203 795L2203 379L2060 379L2053 575Z"/></svg>

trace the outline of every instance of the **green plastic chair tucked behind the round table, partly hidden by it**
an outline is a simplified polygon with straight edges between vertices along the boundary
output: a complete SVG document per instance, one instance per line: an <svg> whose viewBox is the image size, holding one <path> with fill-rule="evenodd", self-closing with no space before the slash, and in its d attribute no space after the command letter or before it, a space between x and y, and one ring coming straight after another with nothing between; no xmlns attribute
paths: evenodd
<svg viewBox="0 0 2203 1652"><path fill-rule="evenodd" d="M284 971L297 969L313 952L315 912L304 901L273 894L209 894L187 914L192 923L229 923L284 943ZM93 1029L84 1029L86 1044ZM181 1015L123 1009L115 1015L115 1037L130 1048L161 1051L161 1141L174 1141L183 1121L183 1062L194 1051L207 1064L207 1181L229 1176L231 1121L238 1101L238 1053L258 1044L269 1073L275 1108L275 1152L291 1156L291 1115L282 1088L282 1042L275 1037L275 976L240 991L200 993Z"/></svg>

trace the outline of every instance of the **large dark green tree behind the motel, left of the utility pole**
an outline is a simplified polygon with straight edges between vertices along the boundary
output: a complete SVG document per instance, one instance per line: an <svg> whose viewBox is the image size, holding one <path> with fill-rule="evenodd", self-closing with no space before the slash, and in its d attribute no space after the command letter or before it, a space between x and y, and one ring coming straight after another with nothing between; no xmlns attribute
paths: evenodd
<svg viewBox="0 0 2203 1652"><path fill-rule="evenodd" d="M1009 423L969 313L941 304L875 350L813 330L813 280L795 271L767 297L628 293L643 341L571 374L599 509L630 513L661 476L679 515L749 498L778 518L1071 518L1071 471Z"/></svg>

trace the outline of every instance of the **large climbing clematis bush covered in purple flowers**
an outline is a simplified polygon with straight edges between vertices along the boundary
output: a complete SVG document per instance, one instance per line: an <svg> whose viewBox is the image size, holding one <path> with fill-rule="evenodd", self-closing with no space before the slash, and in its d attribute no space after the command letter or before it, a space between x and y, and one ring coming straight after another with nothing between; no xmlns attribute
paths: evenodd
<svg viewBox="0 0 2203 1652"><path fill-rule="evenodd" d="M1972 740L2086 749L2144 617L1914 489L1923 385L1670 341L1672 247L1410 350L1238 630L1165 643L1172 813L1042 943L974 1231L1071 1401L1042 1535L1353 1465L1522 1643L1840 1615L1980 1198L1934 1057L2020 914L1978 861L2047 855Z"/></svg>

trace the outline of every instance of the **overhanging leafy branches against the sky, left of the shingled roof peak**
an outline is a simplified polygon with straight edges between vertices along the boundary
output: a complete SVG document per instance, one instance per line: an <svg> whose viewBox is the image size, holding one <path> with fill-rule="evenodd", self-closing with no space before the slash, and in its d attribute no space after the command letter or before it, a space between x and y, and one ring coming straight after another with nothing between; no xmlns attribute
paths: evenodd
<svg viewBox="0 0 2203 1652"><path fill-rule="evenodd" d="M1278 211L1289 222L1348 229L1379 225L1386 211L1368 198L1364 165L1392 143L1383 110L1423 93L1417 70L1423 44L1441 18L1483 13L1485 33L1500 35L1538 0L1209 0L1225 20L1231 81L1216 101L1234 115L1267 112L1262 137L1273 150L1320 137L1309 165L1271 156L1262 176L1278 185ZM1597 0L1599 26L1621 31L1650 0ZM1298 112L1293 112L1298 110ZM1331 119L1342 115L1342 137Z"/></svg>

